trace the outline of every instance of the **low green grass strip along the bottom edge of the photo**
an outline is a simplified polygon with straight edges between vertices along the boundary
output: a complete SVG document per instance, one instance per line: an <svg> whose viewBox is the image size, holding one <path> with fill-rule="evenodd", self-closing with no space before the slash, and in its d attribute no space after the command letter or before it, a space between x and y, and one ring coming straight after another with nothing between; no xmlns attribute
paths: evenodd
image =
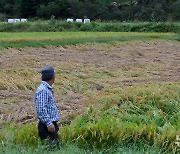
<svg viewBox="0 0 180 154"><path fill-rule="evenodd" d="M0 154L104 154L104 153L113 153L113 154L158 154L160 153L160 149L156 146L148 146L141 145L140 147L137 145L130 146L122 146L122 145L114 145L113 147L107 147L105 149L97 149L97 148L84 148L80 147L77 144L65 144L60 147L60 149L48 150L47 146L39 145L37 147L23 146L23 145L15 145L14 143L3 143L1 144Z"/></svg>

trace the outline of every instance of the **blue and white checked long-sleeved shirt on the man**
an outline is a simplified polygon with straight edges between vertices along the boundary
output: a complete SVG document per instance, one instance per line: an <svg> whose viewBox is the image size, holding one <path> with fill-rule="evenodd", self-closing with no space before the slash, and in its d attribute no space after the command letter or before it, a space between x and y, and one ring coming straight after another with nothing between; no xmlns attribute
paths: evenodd
<svg viewBox="0 0 180 154"><path fill-rule="evenodd" d="M54 100L52 87L42 81L35 94L36 116L46 126L59 121L60 114Z"/></svg>

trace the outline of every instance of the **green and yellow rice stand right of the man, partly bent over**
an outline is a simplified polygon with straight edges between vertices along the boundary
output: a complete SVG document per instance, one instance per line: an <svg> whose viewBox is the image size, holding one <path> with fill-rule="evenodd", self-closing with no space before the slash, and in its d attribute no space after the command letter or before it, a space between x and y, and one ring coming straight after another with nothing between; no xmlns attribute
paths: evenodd
<svg viewBox="0 0 180 154"><path fill-rule="evenodd" d="M143 141L175 150L174 142L180 132L178 89L179 84L165 84L108 90L97 100L99 107L90 107L70 126L61 128L61 139L98 147Z"/></svg>

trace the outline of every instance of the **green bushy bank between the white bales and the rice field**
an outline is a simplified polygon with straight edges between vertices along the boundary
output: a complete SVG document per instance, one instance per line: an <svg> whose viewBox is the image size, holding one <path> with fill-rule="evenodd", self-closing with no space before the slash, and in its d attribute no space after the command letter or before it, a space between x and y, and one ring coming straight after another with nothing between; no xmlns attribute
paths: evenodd
<svg viewBox="0 0 180 154"><path fill-rule="evenodd" d="M0 32L59 32L59 31L93 31L93 32L180 32L179 23L145 22L145 23L67 23L52 16L49 21L38 20L27 23L1 23Z"/></svg>

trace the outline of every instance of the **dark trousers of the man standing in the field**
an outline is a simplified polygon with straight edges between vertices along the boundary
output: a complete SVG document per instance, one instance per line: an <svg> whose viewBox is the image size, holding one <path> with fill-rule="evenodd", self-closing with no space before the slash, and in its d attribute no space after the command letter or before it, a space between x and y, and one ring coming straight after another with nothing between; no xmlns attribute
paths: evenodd
<svg viewBox="0 0 180 154"><path fill-rule="evenodd" d="M58 136L59 126L57 125L57 122L53 122L53 124L55 127L55 132L51 133L48 131L48 128L45 124L41 122L38 123L38 134L41 140L48 139L52 142L59 143L59 136Z"/></svg>

